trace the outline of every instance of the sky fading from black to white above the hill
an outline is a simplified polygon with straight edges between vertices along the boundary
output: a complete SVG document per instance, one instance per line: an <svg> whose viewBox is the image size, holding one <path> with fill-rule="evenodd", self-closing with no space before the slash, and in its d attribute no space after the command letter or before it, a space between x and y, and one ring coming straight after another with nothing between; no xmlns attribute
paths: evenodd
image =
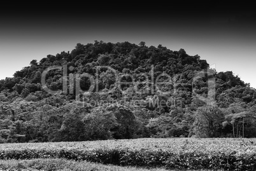
<svg viewBox="0 0 256 171"><path fill-rule="evenodd" d="M196 5L195 5L196 6ZM31 60L71 51L76 43L129 41L183 48L217 72L232 71L256 88L256 15L252 4L48 6L0 12L0 79ZM202 7L203 6L203 7Z"/></svg>

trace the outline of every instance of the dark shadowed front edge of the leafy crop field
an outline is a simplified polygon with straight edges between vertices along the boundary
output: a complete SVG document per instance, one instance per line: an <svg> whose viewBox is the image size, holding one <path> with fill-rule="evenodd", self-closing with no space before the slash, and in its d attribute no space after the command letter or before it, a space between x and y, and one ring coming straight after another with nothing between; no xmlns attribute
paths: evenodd
<svg viewBox="0 0 256 171"><path fill-rule="evenodd" d="M20 149L1 150L0 160L23 160L32 158L66 158L69 160L92 161L103 164L138 167L166 167L168 169L224 169L256 170L256 154L230 154L212 152L173 153L172 151L150 151L133 149Z"/></svg>

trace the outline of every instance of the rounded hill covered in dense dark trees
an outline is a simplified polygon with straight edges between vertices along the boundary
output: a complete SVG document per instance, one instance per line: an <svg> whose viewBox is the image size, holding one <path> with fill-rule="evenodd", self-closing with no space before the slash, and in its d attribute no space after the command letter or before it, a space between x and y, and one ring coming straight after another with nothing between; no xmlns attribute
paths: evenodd
<svg viewBox="0 0 256 171"><path fill-rule="evenodd" d="M78 43L0 90L0 142L256 137L255 89L162 45Z"/></svg>

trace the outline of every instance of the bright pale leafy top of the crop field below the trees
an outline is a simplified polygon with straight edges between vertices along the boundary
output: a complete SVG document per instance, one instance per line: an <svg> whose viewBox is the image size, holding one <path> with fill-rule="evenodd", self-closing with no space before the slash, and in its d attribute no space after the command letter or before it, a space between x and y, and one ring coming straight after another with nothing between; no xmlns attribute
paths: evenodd
<svg viewBox="0 0 256 171"><path fill-rule="evenodd" d="M199 151L207 153L220 151L231 153L256 153L256 139L123 139L123 140L95 140L83 142L38 142L38 143L13 143L0 144L0 151L6 149L159 149L168 151Z"/></svg>

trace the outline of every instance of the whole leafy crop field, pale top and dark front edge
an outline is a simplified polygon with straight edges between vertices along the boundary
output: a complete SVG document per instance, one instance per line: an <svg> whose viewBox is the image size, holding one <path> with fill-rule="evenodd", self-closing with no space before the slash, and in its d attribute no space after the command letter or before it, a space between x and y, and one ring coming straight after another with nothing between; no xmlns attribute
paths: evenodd
<svg viewBox="0 0 256 171"><path fill-rule="evenodd" d="M169 170L256 170L256 139L123 139L0 144L0 160L35 158L64 158Z"/></svg>

